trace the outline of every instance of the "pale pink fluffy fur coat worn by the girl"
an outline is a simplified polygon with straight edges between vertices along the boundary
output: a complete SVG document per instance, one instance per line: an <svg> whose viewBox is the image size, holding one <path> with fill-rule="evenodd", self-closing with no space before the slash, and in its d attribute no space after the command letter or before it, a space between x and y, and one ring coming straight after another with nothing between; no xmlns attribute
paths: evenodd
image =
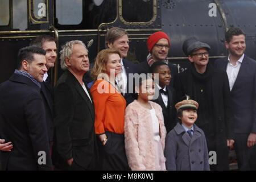
<svg viewBox="0 0 256 182"><path fill-rule="evenodd" d="M149 101L159 121L159 135L163 150L166 138L162 108ZM133 101L125 110L125 151L133 171L155 170L154 134L150 110ZM163 159L165 160L165 159Z"/></svg>

